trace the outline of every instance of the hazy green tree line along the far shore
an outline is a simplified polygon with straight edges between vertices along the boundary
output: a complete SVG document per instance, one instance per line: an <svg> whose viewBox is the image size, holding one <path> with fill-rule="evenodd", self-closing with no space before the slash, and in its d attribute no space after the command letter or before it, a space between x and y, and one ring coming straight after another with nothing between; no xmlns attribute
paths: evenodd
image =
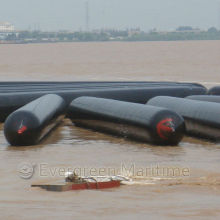
<svg viewBox="0 0 220 220"><path fill-rule="evenodd" d="M220 30L215 27L207 31L190 26L178 27L172 32L150 32L130 30L101 30L94 32L44 32L21 31L11 33L6 41L15 42L87 42L87 41L178 41L178 40L220 40Z"/></svg>

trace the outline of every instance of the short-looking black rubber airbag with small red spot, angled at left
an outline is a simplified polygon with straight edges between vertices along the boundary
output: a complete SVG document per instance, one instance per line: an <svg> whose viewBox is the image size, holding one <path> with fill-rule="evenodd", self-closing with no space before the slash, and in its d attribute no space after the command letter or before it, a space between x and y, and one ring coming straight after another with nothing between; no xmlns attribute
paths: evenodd
<svg viewBox="0 0 220 220"><path fill-rule="evenodd" d="M37 144L61 121L65 111L66 103L60 96L42 96L8 116L5 137L14 146Z"/></svg>

